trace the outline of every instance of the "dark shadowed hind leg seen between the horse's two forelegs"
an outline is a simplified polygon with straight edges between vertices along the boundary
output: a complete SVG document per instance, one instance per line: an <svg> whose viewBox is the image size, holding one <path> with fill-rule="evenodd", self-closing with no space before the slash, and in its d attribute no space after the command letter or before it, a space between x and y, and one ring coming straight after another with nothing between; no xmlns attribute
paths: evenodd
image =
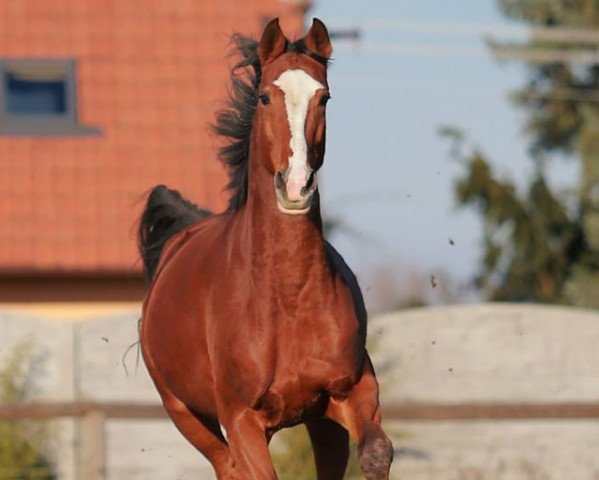
<svg viewBox="0 0 599 480"><path fill-rule="evenodd" d="M333 420L317 418L306 422L310 434L318 480L343 480L349 458L349 434Z"/></svg>

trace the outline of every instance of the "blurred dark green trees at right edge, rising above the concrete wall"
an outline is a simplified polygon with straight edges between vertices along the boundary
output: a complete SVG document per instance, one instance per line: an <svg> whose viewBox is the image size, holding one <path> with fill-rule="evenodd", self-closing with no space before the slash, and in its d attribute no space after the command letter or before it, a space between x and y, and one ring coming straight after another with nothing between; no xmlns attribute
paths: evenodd
<svg viewBox="0 0 599 480"><path fill-rule="evenodd" d="M599 27L596 0L498 0L502 12L531 27L562 33ZM513 49L596 50L567 35L532 36ZM599 308L599 64L530 63L526 85L513 95L527 114L535 174L524 192L497 178L485 155L464 152L455 129L454 156L466 171L456 198L483 219L478 280L493 300L564 303ZM577 185L556 191L546 173L556 153L580 162Z"/></svg>

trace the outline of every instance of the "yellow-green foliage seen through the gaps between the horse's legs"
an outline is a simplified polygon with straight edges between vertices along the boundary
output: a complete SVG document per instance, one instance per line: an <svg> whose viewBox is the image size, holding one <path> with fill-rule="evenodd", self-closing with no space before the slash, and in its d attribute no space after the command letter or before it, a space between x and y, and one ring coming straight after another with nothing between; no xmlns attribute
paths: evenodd
<svg viewBox="0 0 599 480"><path fill-rule="evenodd" d="M281 480L314 480L316 478L312 445L303 425L277 433L277 446L280 448L272 449L272 458ZM362 478L356 446L353 443L350 447L350 459L345 471L345 478L348 480Z"/></svg>

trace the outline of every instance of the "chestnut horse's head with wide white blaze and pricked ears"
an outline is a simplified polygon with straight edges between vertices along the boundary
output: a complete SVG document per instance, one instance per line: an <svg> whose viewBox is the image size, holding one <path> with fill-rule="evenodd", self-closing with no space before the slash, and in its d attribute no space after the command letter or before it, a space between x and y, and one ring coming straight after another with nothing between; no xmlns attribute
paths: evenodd
<svg viewBox="0 0 599 480"><path fill-rule="evenodd" d="M318 19L295 42L285 37L278 19L272 20L258 45L261 76L254 134L266 140L260 160L272 175L277 206L286 214L307 213L317 190L331 52L327 29Z"/></svg>

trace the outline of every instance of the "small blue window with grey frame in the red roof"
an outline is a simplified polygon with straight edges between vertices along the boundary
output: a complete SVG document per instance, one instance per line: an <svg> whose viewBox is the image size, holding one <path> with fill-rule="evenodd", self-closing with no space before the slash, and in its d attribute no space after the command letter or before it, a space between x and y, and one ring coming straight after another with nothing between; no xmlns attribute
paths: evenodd
<svg viewBox="0 0 599 480"><path fill-rule="evenodd" d="M75 62L0 60L0 135L98 135L79 124Z"/></svg>

